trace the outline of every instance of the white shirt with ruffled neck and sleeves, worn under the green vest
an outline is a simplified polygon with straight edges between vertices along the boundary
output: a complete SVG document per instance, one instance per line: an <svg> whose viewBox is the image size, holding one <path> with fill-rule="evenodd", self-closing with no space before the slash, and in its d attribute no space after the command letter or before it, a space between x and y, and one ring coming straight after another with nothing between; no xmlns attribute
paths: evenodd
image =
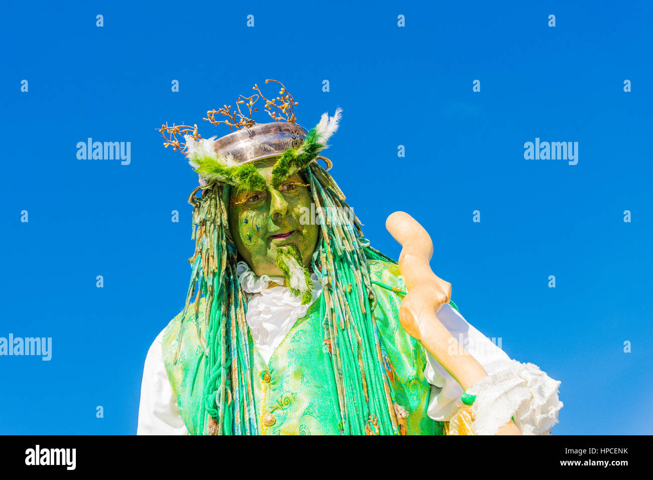
<svg viewBox="0 0 653 480"><path fill-rule="evenodd" d="M295 325L296 320L302 318L308 307L319 297L322 286L317 276L311 275L313 299L308 305L301 305L301 298L293 297L287 287L266 288L270 281L283 284L281 277L256 277L244 262L238 263L236 273L243 290L251 293L251 298L247 301L246 320L252 339L259 353L269 361L274 349ZM511 362L503 350L471 326L450 305L443 305L438 310L438 319L488 374L505 368ZM145 359L138 410L138 435L188 434L168 382L161 351L162 338L163 331L154 340ZM449 421L462 406L462 387L428 352L426 357L428 363L424 369L424 377L431 384L428 416L438 421Z"/></svg>

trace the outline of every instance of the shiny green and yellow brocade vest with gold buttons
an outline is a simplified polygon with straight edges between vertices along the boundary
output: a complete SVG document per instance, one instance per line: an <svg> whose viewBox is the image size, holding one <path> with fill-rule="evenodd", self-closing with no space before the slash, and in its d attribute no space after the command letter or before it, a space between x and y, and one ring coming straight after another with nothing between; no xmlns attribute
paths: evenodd
<svg viewBox="0 0 653 480"><path fill-rule="evenodd" d="M398 265L368 260L370 278L385 286L405 290ZM405 413L400 424L409 435L442 435L443 423L426 414L430 384L424 378L426 355L417 340L406 333L398 312L404 295L385 286L372 284L377 298L373 310L379 337L390 361L389 376L396 403ZM203 302L200 301L200 302ZM197 326L204 329L200 304L195 320L189 308L185 322L180 357L173 365L181 325L178 314L163 335L163 360L168 380L189 434L199 434L202 415L204 362L195 368L203 353L197 338ZM328 346L324 343L323 294L297 320L266 364L248 333L251 381L259 433L264 435L332 435L341 434L338 391ZM195 376L195 386L191 385Z"/></svg>

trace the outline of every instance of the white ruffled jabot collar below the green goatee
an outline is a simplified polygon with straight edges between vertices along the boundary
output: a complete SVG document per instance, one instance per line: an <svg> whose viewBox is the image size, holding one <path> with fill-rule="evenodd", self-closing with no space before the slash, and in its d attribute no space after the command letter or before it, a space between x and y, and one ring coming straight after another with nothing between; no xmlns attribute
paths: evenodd
<svg viewBox="0 0 653 480"><path fill-rule="evenodd" d="M302 297L295 296L289 287L283 286L283 277L257 275L245 262L236 264L236 275L242 289L247 292L247 314L252 340L266 363L283 338L298 319L304 317L322 292L322 284L315 273L311 273L313 291L311 301L302 305ZM277 285L268 288L269 282Z"/></svg>

